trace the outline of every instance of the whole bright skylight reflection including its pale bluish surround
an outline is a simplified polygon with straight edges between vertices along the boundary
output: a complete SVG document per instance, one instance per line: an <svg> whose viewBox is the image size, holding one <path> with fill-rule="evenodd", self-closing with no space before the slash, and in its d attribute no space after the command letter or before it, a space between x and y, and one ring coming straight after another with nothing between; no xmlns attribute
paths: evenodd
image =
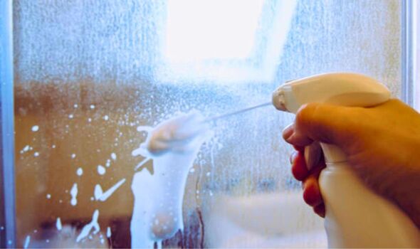
<svg viewBox="0 0 420 249"><path fill-rule="evenodd" d="M156 80L271 82L296 0L167 0Z"/></svg>

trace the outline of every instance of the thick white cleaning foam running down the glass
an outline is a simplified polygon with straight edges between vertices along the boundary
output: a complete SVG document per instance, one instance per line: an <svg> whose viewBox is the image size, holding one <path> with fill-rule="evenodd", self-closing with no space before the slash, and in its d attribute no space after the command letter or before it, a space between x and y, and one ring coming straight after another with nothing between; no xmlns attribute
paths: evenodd
<svg viewBox="0 0 420 249"><path fill-rule="evenodd" d="M189 169L201 144L211 137L198 112L177 115L157 127L139 127L147 139L132 152L145 157L136 169L152 160L152 172L138 171L132 180L135 204L131 221L132 248L153 248L183 231L182 201Z"/></svg>

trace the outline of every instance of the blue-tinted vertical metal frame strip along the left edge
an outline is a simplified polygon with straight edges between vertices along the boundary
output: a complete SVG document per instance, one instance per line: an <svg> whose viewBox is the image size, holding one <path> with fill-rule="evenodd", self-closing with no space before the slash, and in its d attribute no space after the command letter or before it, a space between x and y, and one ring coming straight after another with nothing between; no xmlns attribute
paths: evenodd
<svg viewBox="0 0 420 249"><path fill-rule="evenodd" d="M0 0L0 247L16 248L12 0ZM1 229L1 228L0 228Z"/></svg>

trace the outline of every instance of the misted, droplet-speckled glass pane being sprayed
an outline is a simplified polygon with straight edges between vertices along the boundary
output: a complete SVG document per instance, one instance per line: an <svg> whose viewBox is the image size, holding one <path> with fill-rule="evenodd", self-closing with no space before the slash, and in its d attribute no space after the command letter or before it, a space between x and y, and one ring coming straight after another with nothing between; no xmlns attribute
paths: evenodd
<svg viewBox="0 0 420 249"><path fill-rule="evenodd" d="M14 1L18 245L130 247L132 179L154 171L135 170L139 126L267 102L330 71L399 96L399 1L285 2ZM184 231L162 246L324 247L281 139L292 120L271 107L219 120L188 173Z"/></svg>

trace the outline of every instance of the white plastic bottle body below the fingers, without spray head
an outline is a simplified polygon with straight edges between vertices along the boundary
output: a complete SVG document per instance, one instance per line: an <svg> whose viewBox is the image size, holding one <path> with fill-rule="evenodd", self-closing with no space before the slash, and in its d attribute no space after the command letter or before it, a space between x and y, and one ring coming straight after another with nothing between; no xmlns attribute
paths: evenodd
<svg viewBox="0 0 420 249"><path fill-rule="evenodd" d="M320 174L329 248L420 248L420 231L391 201L374 194L347 162Z"/></svg>

